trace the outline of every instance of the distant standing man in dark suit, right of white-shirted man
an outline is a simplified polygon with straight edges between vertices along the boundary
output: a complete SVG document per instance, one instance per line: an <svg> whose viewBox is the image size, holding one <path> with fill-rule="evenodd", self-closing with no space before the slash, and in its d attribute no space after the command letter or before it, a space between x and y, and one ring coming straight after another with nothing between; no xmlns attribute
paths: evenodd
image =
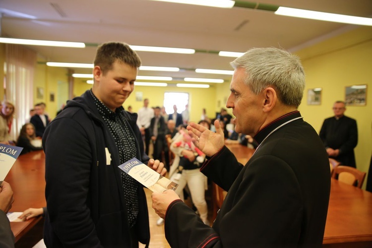
<svg viewBox="0 0 372 248"><path fill-rule="evenodd" d="M162 151L164 151L167 145L165 140L166 124L164 117L160 115L160 107L155 107L154 117L150 122L150 137L154 144L153 158L161 161Z"/></svg>

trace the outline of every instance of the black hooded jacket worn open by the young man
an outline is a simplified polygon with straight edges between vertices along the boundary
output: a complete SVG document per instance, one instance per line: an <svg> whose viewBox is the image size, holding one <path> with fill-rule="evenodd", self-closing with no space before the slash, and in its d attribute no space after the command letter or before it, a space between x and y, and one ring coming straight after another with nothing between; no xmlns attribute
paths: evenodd
<svg viewBox="0 0 372 248"><path fill-rule="evenodd" d="M135 136L137 158L147 164L137 115L123 113ZM43 147L47 247L130 247L119 151L89 91L68 101L48 125ZM148 245L148 212L142 187L138 187L138 200L135 229L139 241Z"/></svg>

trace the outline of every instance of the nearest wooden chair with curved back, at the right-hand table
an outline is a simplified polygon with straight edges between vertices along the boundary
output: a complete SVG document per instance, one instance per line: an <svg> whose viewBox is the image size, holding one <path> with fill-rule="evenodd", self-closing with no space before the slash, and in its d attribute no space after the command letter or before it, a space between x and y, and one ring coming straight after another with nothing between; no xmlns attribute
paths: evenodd
<svg viewBox="0 0 372 248"><path fill-rule="evenodd" d="M365 172L361 172L354 167L344 165L336 166L332 175L332 178L336 178L340 182L359 188L362 187L365 177Z"/></svg>

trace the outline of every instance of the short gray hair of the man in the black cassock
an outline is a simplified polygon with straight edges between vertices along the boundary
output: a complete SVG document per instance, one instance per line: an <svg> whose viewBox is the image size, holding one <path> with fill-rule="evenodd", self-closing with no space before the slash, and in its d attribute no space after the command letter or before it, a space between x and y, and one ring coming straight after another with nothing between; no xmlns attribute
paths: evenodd
<svg viewBox="0 0 372 248"><path fill-rule="evenodd" d="M301 104L305 71L299 57L278 48L252 48L230 64L245 69L245 84L254 94L273 87L283 104L296 108Z"/></svg>

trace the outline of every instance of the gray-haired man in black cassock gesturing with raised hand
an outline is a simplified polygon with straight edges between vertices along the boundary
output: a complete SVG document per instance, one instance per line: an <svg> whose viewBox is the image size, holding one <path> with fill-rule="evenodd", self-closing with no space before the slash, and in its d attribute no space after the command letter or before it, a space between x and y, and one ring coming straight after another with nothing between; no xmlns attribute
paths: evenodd
<svg viewBox="0 0 372 248"><path fill-rule="evenodd" d="M321 247L330 171L319 136L297 111L303 66L277 48L250 49L231 65L226 107L233 109L235 130L254 137L258 147L243 166L224 145L218 120L216 132L187 126L208 157L200 171L228 193L212 227L173 190L153 193L165 237L171 247Z"/></svg>

